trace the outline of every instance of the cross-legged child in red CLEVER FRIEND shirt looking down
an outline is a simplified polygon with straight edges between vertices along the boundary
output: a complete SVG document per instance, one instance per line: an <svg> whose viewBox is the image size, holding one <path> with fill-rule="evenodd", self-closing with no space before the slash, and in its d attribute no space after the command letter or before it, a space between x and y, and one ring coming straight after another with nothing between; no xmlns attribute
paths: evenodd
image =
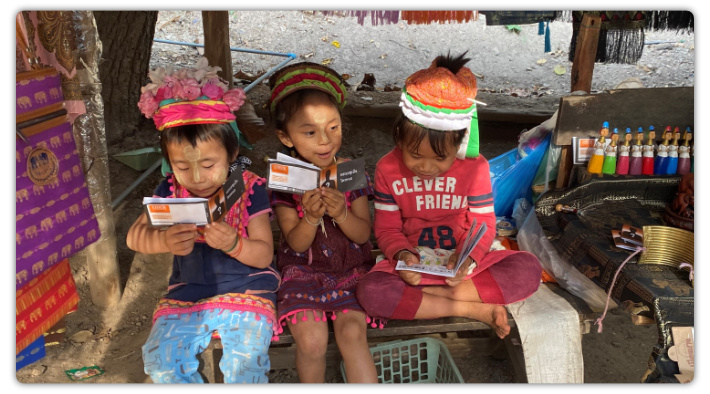
<svg viewBox="0 0 710 394"><path fill-rule="evenodd" d="M468 317L504 338L510 325L503 305L534 293L542 267L528 252L489 251L493 195L488 161L478 154L476 78L464 55L439 56L406 80L396 147L375 170L374 229L385 259L356 294L376 318ZM454 250L452 269L474 220L488 229L454 278L395 270L398 260L418 264L421 247Z"/></svg>

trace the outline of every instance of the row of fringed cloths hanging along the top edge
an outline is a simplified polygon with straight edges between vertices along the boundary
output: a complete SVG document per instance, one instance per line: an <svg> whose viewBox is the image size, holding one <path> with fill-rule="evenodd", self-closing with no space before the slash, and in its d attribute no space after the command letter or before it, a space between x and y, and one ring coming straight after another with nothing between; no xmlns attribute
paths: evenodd
<svg viewBox="0 0 710 394"><path fill-rule="evenodd" d="M373 26L396 24L465 23L485 15L486 25L538 24L538 34L545 35L545 52L549 47L549 22L572 23L569 60L574 61L579 26L584 14L601 17L599 43L595 61L601 63L635 64L644 48L644 30L694 31L695 19L690 11L396 11L355 10L321 11L328 16L355 17L360 25L369 16Z"/></svg>

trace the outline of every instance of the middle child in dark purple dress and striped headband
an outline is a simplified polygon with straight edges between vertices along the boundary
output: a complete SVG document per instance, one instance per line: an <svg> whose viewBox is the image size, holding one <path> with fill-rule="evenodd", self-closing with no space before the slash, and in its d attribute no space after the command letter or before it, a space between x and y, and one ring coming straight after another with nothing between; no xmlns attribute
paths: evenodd
<svg viewBox="0 0 710 394"><path fill-rule="evenodd" d="M320 168L345 161L336 157L345 106L340 75L299 63L279 70L269 82L279 140L297 158ZM369 178L366 188L344 193L325 186L303 195L272 192L281 228L278 319L296 341L296 371L303 383L325 381L328 317L348 382L377 382L367 344L369 319L355 297L359 278L374 263L368 206L373 193Z"/></svg>

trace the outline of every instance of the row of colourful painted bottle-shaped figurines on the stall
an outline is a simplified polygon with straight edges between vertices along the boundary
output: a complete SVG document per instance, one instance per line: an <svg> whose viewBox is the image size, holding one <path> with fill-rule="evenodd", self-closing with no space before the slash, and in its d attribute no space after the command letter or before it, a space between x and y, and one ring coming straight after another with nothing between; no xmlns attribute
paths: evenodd
<svg viewBox="0 0 710 394"><path fill-rule="evenodd" d="M681 139L678 127L671 132L667 126L663 133L663 143L655 146L656 133L653 126L648 128L648 138L643 144L644 132L639 127L636 133L636 144L631 145L631 130L626 129L623 145L617 146L619 133L614 129L611 142L606 143L609 135L609 123L599 132L601 137L594 143L594 154L587 163L587 171L591 174L619 175L670 175L693 172L693 152L690 140L693 135L688 127L683 133L683 145L678 145ZM672 140L672 141L671 141ZM654 150L658 153L654 158ZM617 157L618 155L618 157Z"/></svg>

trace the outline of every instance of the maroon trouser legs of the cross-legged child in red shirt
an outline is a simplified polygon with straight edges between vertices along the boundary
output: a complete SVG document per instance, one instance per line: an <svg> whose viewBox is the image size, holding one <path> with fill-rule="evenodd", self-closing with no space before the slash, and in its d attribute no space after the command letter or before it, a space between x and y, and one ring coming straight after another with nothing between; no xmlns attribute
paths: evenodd
<svg viewBox="0 0 710 394"><path fill-rule="evenodd" d="M489 260L492 259L492 260ZM507 305L532 295L540 285L542 266L535 255L512 250L488 253L467 280L472 280L484 303ZM368 315L381 319L413 320L419 310L422 286L406 283L396 273L372 271L360 279L357 299Z"/></svg>

